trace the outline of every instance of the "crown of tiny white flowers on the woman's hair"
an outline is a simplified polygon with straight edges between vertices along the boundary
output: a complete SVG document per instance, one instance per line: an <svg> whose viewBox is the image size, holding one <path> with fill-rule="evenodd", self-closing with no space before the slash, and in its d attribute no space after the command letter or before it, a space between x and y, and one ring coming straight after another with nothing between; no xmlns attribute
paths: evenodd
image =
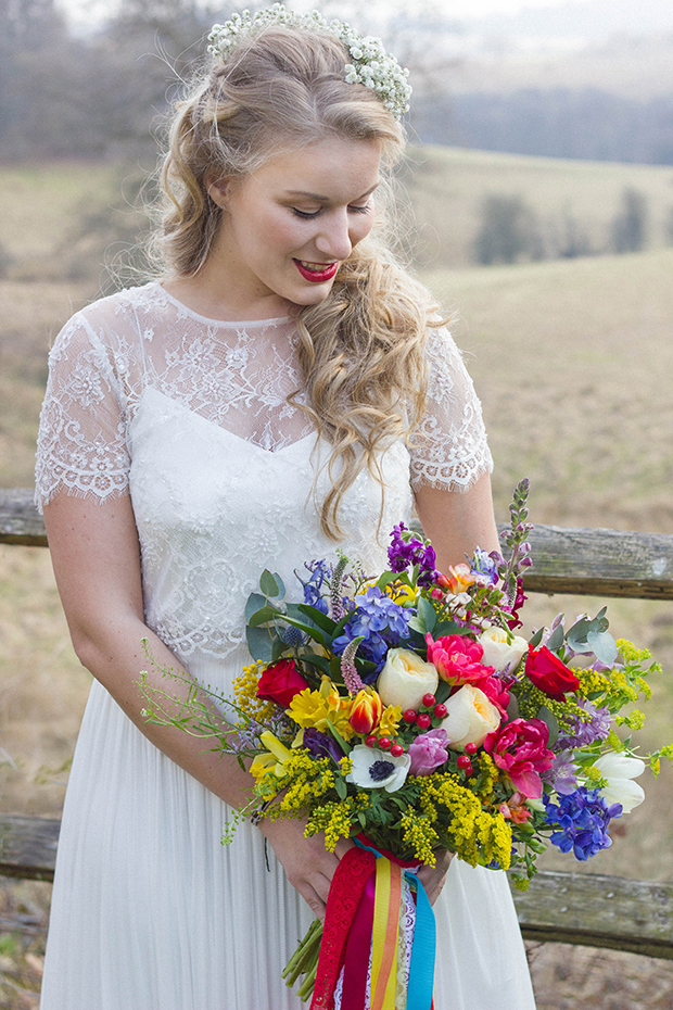
<svg viewBox="0 0 673 1010"><path fill-rule="evenodd" d="M250 11L233 14L224 25L213 25L208 35L208 52L226 59L243 39L270 25L288 25L302 31L319 30L334 36L343 42L353 61L344 67L347 84L363 84L371 88L397 119L408 112L411 94L407 80L409 72L399 66L395 56L385 52L380 39L360 35L345 22L328 22L318 11L296 14L287 11L282 3L275 3L256 14Z"/></svg>

